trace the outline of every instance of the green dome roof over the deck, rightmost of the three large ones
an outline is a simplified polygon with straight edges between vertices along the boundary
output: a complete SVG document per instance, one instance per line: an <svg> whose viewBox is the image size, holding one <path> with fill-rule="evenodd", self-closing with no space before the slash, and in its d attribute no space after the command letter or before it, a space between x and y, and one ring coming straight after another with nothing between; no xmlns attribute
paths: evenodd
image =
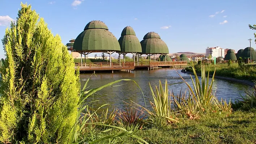
<svg viewBox="0 0 256 144"><path fill-rule="evenodd" d="M142 54L161 54L169 53L169 49L165 42L155 32L147 33L140 42Z"/></svg>

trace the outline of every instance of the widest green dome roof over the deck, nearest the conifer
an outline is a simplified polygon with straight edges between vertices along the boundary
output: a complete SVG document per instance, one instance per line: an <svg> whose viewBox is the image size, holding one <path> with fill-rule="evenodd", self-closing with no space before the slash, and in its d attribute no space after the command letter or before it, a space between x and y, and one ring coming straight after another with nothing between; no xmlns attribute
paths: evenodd
<svg viewBox="0 0 256 144"><path fill-rule="evenodd" d="M116 37L108 31L107 26L101 21L91 21L85 26L73 45L75 51L103 52L120 51Z"/></svg>

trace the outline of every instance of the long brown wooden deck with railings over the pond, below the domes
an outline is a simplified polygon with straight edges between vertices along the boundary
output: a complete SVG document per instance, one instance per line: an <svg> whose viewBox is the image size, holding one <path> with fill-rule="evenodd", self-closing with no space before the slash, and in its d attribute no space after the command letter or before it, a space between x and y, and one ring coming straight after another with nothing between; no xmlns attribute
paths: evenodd
<svg viewBox="0 0 256 144"><path fill-rule="evenodd" d="M162 66L182 66L187 65L187 61L156 61L156 62L94 62L94 63L75 63L75 69L80 71L95 70L133 70L142 67L162 67Z"/></svg>

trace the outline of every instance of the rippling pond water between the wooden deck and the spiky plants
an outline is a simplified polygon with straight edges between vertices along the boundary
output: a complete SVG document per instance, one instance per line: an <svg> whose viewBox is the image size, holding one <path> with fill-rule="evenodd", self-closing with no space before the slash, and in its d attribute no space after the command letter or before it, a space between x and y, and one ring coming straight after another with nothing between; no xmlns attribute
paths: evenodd
<svg viewBox="0 0 256 144"><path fill-rule="evenodd" d="M86 80L91 76L89 80L89 89L103 86L104 84L114 82L119 79L132 79L140 86L147 105L150 105L150 101L153 101L152 93L150 91L149 83L153 90L155 86L159 86L159 80L162 84L165 84L165 80L168 83L168 89L172 90L175 94L187 90L187 85L180 78L183 79L192 86L192 80L189 74L182 73L181 69L172 68L157 69L157 70L134 70L132 73L126 73L125 71L112 73L97 73L96 76L91 74L80 74L81 87L84 86ZM192 77L194 77L192 75ZM143 94L138 86L132 81L122 81L114 84L116 87L107 87L95 93L95 95L89 97L88 101L98 100L94 105L100 106L101 104L110 104L112 108L124 108L124 102L131 103L136 102L142 106L145 106ZM118 86L120 85L120 86ZM214 79L213 92L215 96L220 99L227 99L228 101L235 101L241 95L244 95L244 91L251 90L250 86L231 82L227 80Z"/></svg>

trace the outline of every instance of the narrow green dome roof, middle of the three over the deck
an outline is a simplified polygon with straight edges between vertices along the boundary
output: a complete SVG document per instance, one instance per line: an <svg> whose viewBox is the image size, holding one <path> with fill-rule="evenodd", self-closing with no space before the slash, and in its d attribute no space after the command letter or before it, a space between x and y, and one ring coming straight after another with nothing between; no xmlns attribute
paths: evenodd
<svg viewBox="0 0 256 144"><path fill-rule="evenodd" d="M118 40L123 53L141 53L141 45L132 27L127 26L123 29Z"/></svg>

